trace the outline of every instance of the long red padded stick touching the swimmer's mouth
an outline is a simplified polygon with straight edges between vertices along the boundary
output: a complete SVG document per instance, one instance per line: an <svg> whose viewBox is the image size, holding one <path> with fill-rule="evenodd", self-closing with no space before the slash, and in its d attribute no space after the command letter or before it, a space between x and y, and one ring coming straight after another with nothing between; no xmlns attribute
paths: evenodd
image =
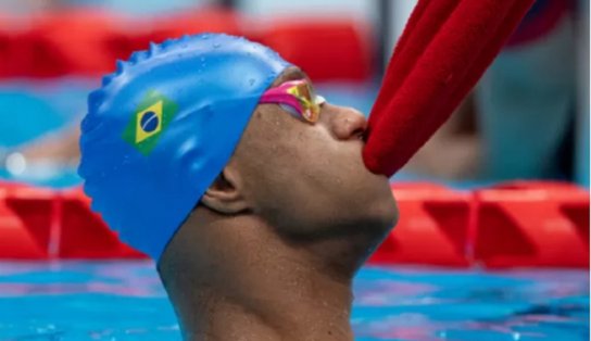
<svg viewBox="0 0 591 341"><path fill-rule="evenodd" d="M533 0L419 0L372 110L366 166L393 175L448 119Z"/></svg>

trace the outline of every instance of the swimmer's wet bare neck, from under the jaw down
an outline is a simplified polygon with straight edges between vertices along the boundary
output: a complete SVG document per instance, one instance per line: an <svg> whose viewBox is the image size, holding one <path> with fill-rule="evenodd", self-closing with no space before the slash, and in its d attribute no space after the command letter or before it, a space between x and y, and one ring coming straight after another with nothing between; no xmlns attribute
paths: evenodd
<svg viewBox="0 0 591 341"><path fill-rule="evenodd" d="M209 260L198 268L168 269L187 276L165 276L186 340L353 340L352 275L336 276L265 226L234 225L209 226L226 243L184 256Z"/></svg>

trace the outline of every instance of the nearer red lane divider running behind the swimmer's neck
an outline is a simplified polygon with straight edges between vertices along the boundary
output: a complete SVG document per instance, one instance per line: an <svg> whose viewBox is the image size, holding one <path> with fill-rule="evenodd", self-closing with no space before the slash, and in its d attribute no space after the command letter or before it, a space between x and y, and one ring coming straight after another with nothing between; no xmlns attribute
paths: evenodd
<svg viewBox="0 0 591 341"><path fill-rule="evenodd" d="M574 185L392 190L400 220L369 264L589 267L589 192ZM0 260L143 257L91 212L80 189L0 182Z"/></svg>

